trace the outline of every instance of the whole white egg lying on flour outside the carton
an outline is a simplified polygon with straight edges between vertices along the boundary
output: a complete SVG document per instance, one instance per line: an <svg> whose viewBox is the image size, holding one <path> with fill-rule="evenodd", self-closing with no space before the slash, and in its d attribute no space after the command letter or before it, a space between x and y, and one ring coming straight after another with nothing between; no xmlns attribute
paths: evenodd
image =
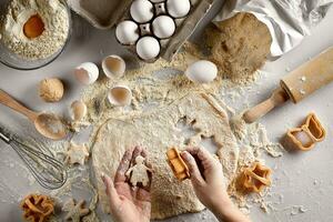
<svg viewBox="0 0 333 222"><path fill-rule="evenodd" d="M199 60L186 69L185 75L193 82L209 83L216 78L218 68L211 61Z"/></svg>

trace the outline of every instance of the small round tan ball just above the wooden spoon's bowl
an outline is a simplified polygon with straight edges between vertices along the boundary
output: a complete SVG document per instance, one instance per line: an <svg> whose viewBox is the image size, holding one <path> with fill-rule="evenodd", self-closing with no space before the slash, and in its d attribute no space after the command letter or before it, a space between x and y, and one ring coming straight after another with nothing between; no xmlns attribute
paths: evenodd
<svg viewBox="0 0 333 222"><path fill-rule="evenodd" d="M46 102L58 102L63 97L63 84L59 79L44 79L39 84L39 95Z"/></svg>

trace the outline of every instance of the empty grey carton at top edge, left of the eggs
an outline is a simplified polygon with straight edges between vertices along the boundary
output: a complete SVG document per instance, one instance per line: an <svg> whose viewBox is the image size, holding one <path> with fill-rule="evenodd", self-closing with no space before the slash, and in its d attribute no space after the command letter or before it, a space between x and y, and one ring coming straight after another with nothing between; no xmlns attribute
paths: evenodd
<svg viewBox="0 0 333 222"><path fill-rule="evenodd" d="M98 29L111 29L132 0L68 0L69 7Z"/></svg>

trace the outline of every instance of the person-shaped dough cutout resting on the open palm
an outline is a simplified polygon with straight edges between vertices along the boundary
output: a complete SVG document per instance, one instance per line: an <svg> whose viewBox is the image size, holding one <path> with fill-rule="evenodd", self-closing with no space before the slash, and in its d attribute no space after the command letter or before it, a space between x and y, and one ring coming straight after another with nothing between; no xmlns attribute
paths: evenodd
<svg viewBox="0 0 333 222"><path fill-rule="evenodd" d="M138 155L135 158L135 165L128 170L127 176L130 179L133 186L137 186L138 183L147 186L149 183L148 172L151 172L151 170L144 164L144 158L142 155Z"/></svg>

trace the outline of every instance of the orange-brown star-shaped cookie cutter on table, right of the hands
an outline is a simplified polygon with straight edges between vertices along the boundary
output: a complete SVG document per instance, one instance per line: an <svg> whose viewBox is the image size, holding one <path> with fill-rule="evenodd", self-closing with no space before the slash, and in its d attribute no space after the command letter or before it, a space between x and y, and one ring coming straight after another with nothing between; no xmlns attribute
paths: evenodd
<svg viewBox="0 0 333 222"><path fill-rule="evenodd" d="M244 168L240 175L240 185L244 192L261 192L265 186L271 185L272 170L254 162L252 167Z"/></svg>

